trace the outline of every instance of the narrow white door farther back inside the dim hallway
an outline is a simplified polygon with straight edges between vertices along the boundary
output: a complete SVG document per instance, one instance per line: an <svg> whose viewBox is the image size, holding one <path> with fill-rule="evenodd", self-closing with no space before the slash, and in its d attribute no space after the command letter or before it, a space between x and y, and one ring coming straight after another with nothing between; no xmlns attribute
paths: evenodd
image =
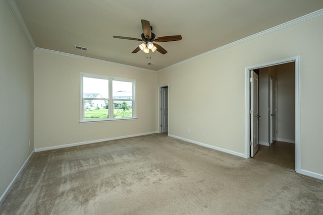
<svg viewBox="0 0 323 215"><path fill-rule="evenodd" d="M271 78L270 91L270 143L277 140L277 81Z"/></svg>

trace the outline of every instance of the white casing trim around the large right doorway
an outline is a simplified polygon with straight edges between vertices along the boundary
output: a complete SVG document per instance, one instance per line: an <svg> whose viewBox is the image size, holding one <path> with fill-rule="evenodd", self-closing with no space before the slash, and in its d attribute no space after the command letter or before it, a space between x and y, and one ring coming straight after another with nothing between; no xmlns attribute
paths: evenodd
<svg viewBox="0 0 323 215"><path fill-rule="evenodd" d="M289 62L295 62L295 171L301 173L301 56L293 56L275 61L260 63L256 65L245 67L245 107L244 107L244 121L245 121L245 144L244 156L250 158L250 89L249 77L250 71L257 68L279 65Z"/></svg>

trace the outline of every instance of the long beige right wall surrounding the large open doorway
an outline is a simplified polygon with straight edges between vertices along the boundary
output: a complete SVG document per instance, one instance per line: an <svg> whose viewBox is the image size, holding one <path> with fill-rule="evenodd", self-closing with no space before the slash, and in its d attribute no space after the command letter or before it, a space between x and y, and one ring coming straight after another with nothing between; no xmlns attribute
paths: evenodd
<svg viewBox="0 0 323 215"><path fill-rule="evenodd" d="M160 71L169 134L244 154L245 67L301 55L301 169L323 174L322 23L319 16Z"/></svg>

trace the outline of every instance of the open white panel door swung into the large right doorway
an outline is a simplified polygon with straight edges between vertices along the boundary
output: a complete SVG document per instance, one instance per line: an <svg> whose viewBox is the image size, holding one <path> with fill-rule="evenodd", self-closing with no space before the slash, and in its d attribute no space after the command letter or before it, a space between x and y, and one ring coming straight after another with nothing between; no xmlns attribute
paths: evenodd
<svg viewBox="0 0 323 215"><path fill-rule="evenodd" d="M251 70L250 77L250 156L259 149L259 77Z"/></svg>

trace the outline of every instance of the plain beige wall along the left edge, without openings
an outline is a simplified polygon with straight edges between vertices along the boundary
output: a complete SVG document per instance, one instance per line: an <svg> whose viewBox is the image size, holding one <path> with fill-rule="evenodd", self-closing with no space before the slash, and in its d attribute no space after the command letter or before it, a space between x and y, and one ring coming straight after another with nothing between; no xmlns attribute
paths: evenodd
<svg viewBox="0 0 323 215"><path fill-rule="evenodd" d="M0 103L2 196L34 149L33 50L5 0L0 1Z"/></svg>

